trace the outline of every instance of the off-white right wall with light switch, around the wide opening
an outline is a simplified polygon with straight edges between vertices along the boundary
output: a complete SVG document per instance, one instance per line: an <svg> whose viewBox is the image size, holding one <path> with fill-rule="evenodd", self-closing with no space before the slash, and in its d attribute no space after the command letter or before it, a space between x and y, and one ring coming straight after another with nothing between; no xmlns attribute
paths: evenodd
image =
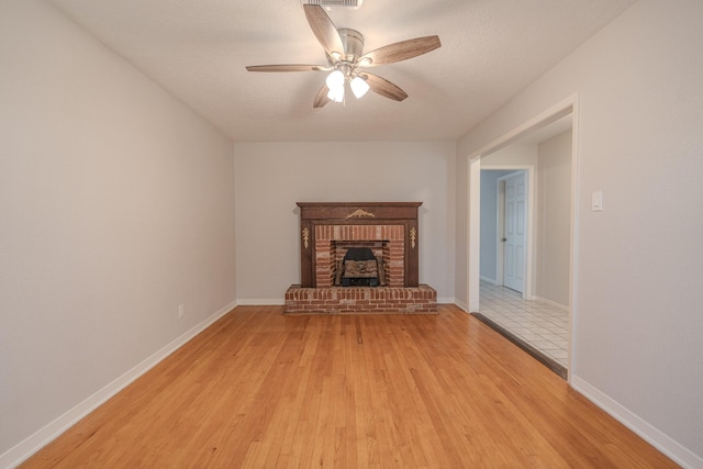
<svg viewBox="0 0 703 469"><path fill-rule="evenodd" d="M691 467L703 467L701 18L699 0L635 3L457 143L461 227L468 157L579 93L571 381ZM605 210L591 212L598 190Z"/></svg>

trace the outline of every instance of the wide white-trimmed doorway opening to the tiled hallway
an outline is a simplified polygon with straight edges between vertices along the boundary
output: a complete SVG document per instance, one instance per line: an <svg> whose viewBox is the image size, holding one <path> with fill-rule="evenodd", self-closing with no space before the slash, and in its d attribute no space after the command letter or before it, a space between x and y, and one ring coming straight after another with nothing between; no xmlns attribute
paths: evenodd
<svg viewBox="0 0 703 469"><path fill-rule="evenodd" d="M468 175L469 311L566 379L574 314L574 110L576 97L487 146L470 159ZM521 230L515 244L511 236Z"/></svg>

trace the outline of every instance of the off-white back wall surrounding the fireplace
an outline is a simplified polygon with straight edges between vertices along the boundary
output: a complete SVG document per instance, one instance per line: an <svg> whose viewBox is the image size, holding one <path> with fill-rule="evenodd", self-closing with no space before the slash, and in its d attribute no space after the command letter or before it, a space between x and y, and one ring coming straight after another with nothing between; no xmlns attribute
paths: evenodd
<svg viewBox="0 0 703 469"><path fill-rule="evenodd" d="M300 282L295 202L423 202L420 281L454 298L454 143L236 143L237 298ZM444 299L444 300L443 300Z"/></svg>

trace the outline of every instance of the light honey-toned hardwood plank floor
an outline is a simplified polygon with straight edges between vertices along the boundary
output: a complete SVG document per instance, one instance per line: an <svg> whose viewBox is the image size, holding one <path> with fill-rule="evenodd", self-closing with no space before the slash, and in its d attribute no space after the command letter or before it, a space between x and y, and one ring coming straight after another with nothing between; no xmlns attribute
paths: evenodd
<svg viewBox="0 0 703 469"><path fill-rule="evenodd" d="M236 308L24 467L677 467L456 306L281 312Z"/></svg>

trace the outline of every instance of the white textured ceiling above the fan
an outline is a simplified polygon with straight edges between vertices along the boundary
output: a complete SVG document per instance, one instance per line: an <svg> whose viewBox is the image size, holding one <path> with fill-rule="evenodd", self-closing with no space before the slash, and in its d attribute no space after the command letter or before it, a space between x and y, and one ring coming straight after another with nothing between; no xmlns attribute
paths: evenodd
<svg viewBox="0 0 703 469"><path fill-rule="evenodd" d="M325 64L303 0L49 0L233 141L456 139L635 0L365 0L335 9L365 51L437 34L442 47L373 68L410 94L369 92L313 109ZM371 71L371 70L370 70Z"/></svg>

